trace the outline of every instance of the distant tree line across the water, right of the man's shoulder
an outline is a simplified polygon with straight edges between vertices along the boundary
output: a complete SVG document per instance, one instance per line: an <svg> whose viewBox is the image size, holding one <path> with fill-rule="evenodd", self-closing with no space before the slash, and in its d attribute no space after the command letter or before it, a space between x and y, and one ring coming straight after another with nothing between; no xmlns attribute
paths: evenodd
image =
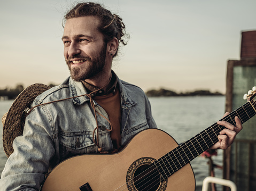
<svg viewBox="0 0 256 191"><path fill-rule="evenodd" d="M212 93L210 90L195 90L193 92L186 92L186 93L176 93L173 90L167 90L167 89L151 89L148 92L146 92L146 95L149 97L159 97L159 96L223 96L220 92Z"/></svg>

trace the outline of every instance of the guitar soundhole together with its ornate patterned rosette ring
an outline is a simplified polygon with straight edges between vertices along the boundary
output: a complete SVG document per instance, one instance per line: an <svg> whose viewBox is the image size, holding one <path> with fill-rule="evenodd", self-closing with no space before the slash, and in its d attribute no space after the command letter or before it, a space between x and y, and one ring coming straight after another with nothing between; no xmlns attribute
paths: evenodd
<svg viewBox="0 0 256 191"><path fill-rule="evenodd" d="M142 157L134 161L126 175L129 191L165 191L167 180L162 180L159 171L152 164L156 159Z"/></svg>

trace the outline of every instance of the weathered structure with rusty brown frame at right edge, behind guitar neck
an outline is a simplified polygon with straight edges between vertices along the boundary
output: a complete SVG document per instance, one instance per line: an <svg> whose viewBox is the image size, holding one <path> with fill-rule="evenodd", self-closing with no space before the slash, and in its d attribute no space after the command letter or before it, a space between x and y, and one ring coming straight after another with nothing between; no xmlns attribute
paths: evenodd
<svg viewBox="0 0 256 191"><path fill-rule="evenodd" d="M227 63L226 111L234 111L243 105L243 95L253 86L256 86L256 30L242 32L241 60ZM235 142L224 151L223 178L234 181L237 190L255 190L256 117L243 124Z"/></svg>

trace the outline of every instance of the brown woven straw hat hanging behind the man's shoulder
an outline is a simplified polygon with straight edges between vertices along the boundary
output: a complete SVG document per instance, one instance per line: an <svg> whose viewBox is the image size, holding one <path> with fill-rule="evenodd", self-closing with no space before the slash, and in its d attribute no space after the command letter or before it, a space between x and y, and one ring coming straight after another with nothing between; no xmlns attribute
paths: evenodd
<svg viewBox="0 0 256 191"><path fill-rule="evenodd" d="M24 89L12 103L9 111L2 117L3 147L7 157L13 153L13 140L22 135L25 119L34 99L50 89L44 84L33 84Z"/></svg>

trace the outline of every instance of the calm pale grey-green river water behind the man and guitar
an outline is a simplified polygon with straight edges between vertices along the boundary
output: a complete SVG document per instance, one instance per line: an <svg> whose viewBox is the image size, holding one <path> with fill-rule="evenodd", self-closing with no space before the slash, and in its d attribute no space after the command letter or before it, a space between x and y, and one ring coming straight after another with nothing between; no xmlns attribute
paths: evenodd
<svg viewBox="0 0 256 191"><path fill-rule="evenodd" d="M150 97L152 115L159 129L166 131L177 143L182 143L211 126L224 114L224 96L198 97ZM9 110L13 100L0 101L0 117ZM0 124L2 137L3 126ZM7 157L0 139L0 173ZM205 177L209 176L208 159L198 156L191 161L196 178L196 191L201 190ZM216 164L222 165L222 150L213 156ZM215 176L222 178L222 170L215 169Z"/></svg>

